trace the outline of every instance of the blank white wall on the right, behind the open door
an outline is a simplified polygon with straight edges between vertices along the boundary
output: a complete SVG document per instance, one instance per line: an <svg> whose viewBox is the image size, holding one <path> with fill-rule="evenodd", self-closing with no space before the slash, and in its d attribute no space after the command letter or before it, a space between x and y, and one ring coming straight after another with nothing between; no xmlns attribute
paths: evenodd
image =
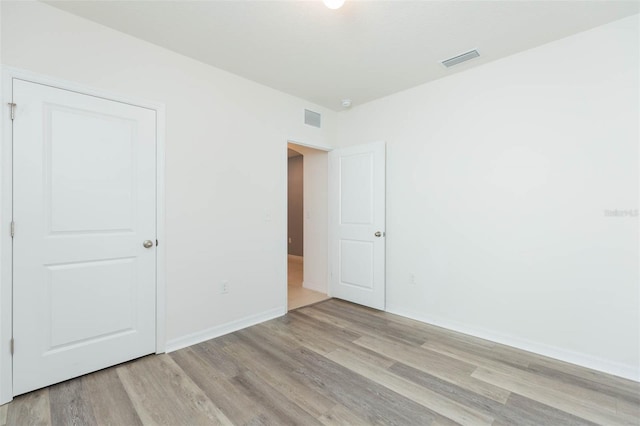
<svg viewBox="0 0 640 426"><path fill-rule="evenodd" d="M640 377L638 54L635 16L339 114L388 143L389 311Z"/></svg>

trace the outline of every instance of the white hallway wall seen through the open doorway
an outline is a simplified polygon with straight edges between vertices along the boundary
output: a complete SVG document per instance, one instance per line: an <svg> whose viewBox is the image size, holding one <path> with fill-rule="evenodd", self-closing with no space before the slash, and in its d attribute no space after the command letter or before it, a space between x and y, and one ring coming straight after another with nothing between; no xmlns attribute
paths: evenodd
<svg viewBox="0 0 640 426"><path fill-rule="evenodd" d="M304 161L304 278L302 286L328 292L328 154L291 145Z"/></svg>

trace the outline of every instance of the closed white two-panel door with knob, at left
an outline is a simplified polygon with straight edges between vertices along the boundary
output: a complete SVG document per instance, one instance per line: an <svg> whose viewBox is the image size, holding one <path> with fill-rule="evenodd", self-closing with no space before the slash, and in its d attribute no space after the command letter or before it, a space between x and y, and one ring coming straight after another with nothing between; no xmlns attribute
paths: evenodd
<svg viewBox="0 0 640 426"><path fill-rule="evenodd" d="M155 351L156 135L142 107L17 79L13 100L18 395Z"/></svg>

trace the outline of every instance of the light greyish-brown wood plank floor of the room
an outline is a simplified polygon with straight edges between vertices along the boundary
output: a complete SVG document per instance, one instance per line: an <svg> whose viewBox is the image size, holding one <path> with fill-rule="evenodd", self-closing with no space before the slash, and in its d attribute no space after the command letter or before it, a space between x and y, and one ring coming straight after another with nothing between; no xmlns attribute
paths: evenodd
<svg viewBox="0 0 640 426"><path fill-rule="evenodd" d="M640 385L328 300L17 397L8 425L638 425Z"/></svg>

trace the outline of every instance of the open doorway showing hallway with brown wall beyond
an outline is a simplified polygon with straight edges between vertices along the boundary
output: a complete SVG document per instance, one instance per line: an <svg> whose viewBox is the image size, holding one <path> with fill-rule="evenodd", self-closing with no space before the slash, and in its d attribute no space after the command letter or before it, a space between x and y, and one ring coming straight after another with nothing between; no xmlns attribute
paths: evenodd
<svg viewBox="0 0 640 426"><path fill-rule="evenodd" d="M287 150L287 307L328 299L327 152L289 143Z"/></svg>

